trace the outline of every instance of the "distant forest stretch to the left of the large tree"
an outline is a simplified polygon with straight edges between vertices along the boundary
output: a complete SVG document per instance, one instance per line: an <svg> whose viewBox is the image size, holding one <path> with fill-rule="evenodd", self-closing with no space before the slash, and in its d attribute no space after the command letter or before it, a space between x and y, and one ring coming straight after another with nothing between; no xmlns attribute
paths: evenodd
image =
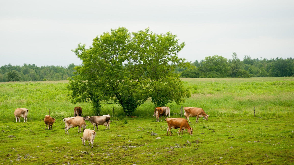
<svg viewBox="0 0 294 165"><path fill-rule="evenodd" d="M35 64L24 64L23 66L12 66L10 63L0 67L0 82L8 81L46 81L46 80L66 80L72 77L73 63L65 66L41 66Z"/></svg>

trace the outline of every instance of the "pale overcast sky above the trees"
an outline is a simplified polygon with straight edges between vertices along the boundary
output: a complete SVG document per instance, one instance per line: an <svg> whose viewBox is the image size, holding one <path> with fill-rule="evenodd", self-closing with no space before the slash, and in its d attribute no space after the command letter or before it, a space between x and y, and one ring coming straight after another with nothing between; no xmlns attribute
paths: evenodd
<svg viewBox="0 0 294 165"><path fill-rule="evenodd" d="M293 0L0 0L0 66L81 64L71 52L103 32L170 31L188 61L294 57Z"/></svg>

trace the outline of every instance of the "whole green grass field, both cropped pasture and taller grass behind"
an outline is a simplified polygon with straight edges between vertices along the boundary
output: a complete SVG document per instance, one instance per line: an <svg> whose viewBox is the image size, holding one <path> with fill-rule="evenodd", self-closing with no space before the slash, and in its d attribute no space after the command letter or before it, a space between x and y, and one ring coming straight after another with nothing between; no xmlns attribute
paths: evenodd
<svg viewBox="0 0 294 165"><path fill-rule="evenodd" d="M181 106L202 107L210 115L208 121L199 119L199 123L190 118L193 136L187 131L178 136L178 129L166 136L167 124L155 122L150 100L138 107L134 114L138 118L126 118L118 105L104 104L101 115L110 114L112 122L109 130L98 126L93 149L88 142L82 145L77 127L65 134L62 119L72 117L75 106L83 108L83 116L93 115L90 103L69 102L67 81L0 83L0 163L294 163L293 77L183 81L191 88L192 97L182 105L171 103L171 117L180 117ZM13 112L18 107L29 109L27 123L23 118L15 123ZM56 122L53 130L44 130L49 108ZM151 136L152 132L158 135Z"/></svg>

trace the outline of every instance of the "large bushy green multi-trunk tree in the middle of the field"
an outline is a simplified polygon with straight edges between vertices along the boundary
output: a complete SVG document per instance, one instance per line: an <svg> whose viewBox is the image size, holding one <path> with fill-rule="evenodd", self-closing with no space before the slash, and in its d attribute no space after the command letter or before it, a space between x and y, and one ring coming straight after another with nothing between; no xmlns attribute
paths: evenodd
<svg viewBox="0 0 294 165"><path fill-rule="evenodd" d="M177 56L184 45L169 32L111 29L94 38L90 48L79 44L73 50L83 63L69 79L69 97L73 103L92 101L97 115L101 101L120 104L126 115L148 98L155 106L183 102L190 93L173 71L188 65Z"/></svg>

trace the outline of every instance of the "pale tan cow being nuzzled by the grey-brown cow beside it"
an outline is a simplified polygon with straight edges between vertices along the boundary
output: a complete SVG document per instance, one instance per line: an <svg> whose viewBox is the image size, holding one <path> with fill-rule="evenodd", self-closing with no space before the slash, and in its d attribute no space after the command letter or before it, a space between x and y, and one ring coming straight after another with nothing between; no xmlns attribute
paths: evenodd
<svg viewBox="0 0 294 165"><path fill-rule="evenodd" d="M69 129L73 127L78 127L78 132L81 133L81 128L83 127L83 131L86 129L86 122L81 116L76 116L76 117L66 117L63 119L65 123L65 134L67 131L67 134L69 134Z"/></svg>

